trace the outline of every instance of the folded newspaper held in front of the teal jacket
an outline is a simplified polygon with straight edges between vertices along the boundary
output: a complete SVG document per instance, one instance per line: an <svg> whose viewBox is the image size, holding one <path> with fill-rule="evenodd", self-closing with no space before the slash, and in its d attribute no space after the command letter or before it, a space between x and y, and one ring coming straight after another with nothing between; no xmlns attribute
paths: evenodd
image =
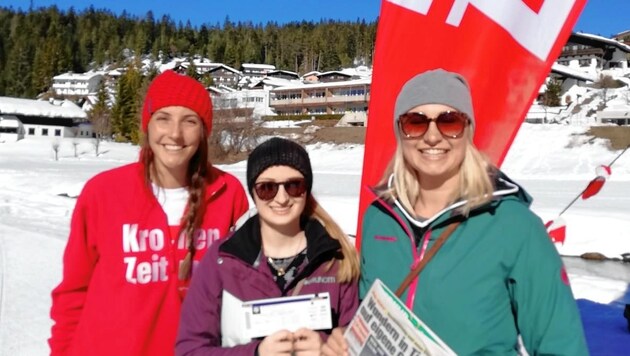
<svg viewBox="0 0 630 356"><path fill-rule="evenodd" d="M455 355L378 279L346 328L345 338L351 356Z"/></svg>

